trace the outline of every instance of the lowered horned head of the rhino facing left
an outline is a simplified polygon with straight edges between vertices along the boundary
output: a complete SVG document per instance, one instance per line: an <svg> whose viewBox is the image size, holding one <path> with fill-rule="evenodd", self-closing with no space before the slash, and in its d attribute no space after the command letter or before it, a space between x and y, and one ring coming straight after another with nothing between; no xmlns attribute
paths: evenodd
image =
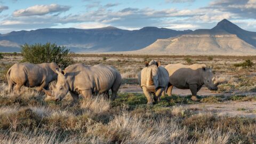
<svg viewBox="0 0 256 144"><path fill-rule="evenodd" d="M69 84L65 76L65 71L57 68L55 72L58 74L58 81L55 85L55 89L51 91L43 89L43 91L50 97L53 97L55 101L61 101L69 91Z"/></svg>

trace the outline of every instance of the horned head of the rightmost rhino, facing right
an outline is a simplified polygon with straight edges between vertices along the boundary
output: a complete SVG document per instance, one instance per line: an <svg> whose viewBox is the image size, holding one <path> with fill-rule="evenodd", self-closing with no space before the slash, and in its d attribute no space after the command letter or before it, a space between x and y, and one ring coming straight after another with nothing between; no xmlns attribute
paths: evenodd
<svg viewBox="0 0 256 144"><path fill-rule="evenodd" d="M218 90L218 84L214 83L214 77L212 73L212 68L205 68L202 67L202 79L204 82L204 85L211 91L217 91Z"/></svg>

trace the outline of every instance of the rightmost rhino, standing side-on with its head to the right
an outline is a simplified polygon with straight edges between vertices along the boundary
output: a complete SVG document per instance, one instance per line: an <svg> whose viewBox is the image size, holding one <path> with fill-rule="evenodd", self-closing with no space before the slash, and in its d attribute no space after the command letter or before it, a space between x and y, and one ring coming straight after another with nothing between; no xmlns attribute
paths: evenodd
<svg viewBox="0 0 256 144"><path fill-rule="evenodd" d="M218 90L218 83L214 84L212 68L204 64L182 65L181 63L169 64L165 67L169 73L169 84L166 90L171 96L173 86L178 89L190 89L192 100L197 100L196 93L203 85L211 91Z"/></svg>

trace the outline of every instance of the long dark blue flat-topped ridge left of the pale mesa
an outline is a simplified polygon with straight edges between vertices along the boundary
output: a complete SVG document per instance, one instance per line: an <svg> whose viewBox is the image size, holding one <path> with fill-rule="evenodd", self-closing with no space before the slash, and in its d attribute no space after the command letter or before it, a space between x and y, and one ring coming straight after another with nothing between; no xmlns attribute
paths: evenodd
<svg viewBox="0 0 256 144"><path fill-rule="evenodd" d="M0 51L17 51L19 50L17 45L46 42L64 45L73 52L132 51L142 49L159 38L187 34L190 31L156 27L144 27L139 30L123 30L115 27L21 30L0 35Z"/></svg>

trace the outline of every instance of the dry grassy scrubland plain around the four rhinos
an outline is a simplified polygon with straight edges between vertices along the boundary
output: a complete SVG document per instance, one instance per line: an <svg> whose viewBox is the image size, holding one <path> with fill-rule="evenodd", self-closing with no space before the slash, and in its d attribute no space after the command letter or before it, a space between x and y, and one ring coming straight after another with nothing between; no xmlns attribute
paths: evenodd
<svg viewBox="0 0 256 144"><path fill-rule="evenodd" d="M21 95L8 93L5 73L21 57L4 54L0 62L0 143L256 142L255 116L228 115L229 111L219 115L219 111L207 109L209 105L224 109L227 103L246 105L256 101L256 66L234 66L247 59L256 63L255 57L74 54L73 58L86 65L116 67L123 77L117 99L95 95L86 100L80 97L72 105L69 94L61 102L54 102L34 88L22 87ZM138 84L137 73L144 67L143 61L151 59L160 60L163 66L205 63L213 67L222 84L212 96L200 95L198 102L191 101L189 94L173 94L147 106L143 93L127 93L124 89ZM243 105L233 111L256 114L255 106L247 109Z"/></svg>

